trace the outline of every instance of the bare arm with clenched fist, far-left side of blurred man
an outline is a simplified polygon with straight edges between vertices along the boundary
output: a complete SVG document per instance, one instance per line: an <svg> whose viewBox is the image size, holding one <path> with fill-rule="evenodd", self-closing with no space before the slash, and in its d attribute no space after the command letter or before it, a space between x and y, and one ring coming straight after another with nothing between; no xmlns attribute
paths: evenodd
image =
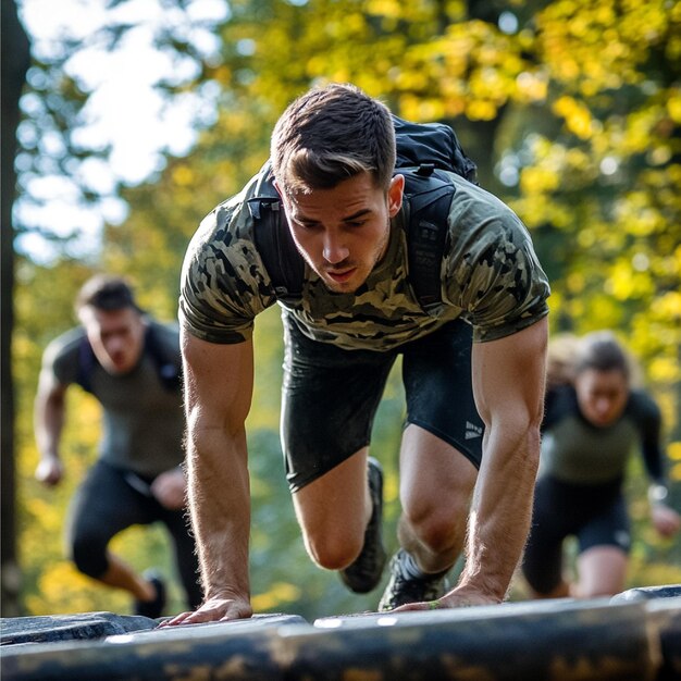
<svg viewBox="0 0 681 681"><path fill-rule="evenodd" d="M34 403L34 432L40 461L35 476L46 485L57 485L63 476L59 444L66 416L66 388L50 368L40 371Z"/></svg>

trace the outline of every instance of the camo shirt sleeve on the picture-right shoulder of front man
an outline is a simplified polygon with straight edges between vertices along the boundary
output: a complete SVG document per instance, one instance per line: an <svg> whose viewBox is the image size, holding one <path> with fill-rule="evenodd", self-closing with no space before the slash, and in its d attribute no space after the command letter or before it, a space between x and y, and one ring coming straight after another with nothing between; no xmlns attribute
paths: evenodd
<svg viewBox="0 0 681 681"><path fill-rule="evenodd" d="M449 235L446 293L475 342L509 336L548 314L548 280L527 227L507 206L472 185L457 189Z"/></svg>

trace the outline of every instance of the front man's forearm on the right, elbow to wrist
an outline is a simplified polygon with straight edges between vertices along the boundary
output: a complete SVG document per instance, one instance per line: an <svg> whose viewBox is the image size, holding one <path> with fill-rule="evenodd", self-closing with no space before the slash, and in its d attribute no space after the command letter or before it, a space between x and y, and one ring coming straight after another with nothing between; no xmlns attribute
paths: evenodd
<svg viewBox="0 0 681 681"><path fill-rule="evenodd" d="M490 429L469 518L466 568L459 587L503 600L527 542L540 435Z"/></svg>

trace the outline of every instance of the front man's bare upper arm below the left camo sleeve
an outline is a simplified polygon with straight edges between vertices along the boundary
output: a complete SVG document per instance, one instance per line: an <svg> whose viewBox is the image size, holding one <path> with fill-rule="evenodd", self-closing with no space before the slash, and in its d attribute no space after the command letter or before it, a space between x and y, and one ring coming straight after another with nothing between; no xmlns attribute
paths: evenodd
<svg viewBox="0 0 681 681"><path fill-rule="evenodd" d="M183 330L181 343L189 429L243 429L253 389L252 342L209 343Z"/></svg>

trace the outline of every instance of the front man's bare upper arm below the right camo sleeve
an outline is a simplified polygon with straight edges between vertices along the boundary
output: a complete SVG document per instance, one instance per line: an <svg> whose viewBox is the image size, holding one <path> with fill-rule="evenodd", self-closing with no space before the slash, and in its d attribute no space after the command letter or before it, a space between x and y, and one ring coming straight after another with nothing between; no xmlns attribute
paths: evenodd
<svg viewBox="0 0 681 681"><path fill-rule="evenodd" d="M497 340L473 344L473 391L487 426L541 422L544 404L546 318Z"/></svg>

